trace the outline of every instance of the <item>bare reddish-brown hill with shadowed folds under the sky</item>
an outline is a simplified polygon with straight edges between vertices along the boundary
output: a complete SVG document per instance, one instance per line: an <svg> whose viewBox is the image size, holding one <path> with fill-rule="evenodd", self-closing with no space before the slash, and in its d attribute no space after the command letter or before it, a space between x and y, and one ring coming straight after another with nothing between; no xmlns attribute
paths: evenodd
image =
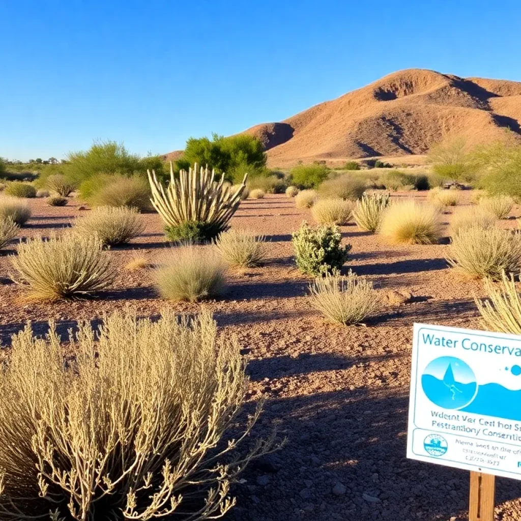
<svg viewBox="0 0 521 521"><path fill-rule="evenodd" d="M270 166L284 167L425 154L445 138L472 145L500 139L505 128L521 143L520 125L521 82L408 69L245 132L264 143Z"/></svg>

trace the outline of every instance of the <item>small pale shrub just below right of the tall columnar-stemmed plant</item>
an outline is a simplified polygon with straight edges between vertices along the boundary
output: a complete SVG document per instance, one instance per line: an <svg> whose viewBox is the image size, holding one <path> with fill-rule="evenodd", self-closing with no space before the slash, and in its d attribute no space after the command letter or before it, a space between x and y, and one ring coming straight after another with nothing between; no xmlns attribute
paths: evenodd
<svg viewBox="0 0 521 521"><path fill-rule="evenodd" d="M231 229L219 235L215 246L230 266L252 268L267 257L264 237L244 230Z"/></svg>

